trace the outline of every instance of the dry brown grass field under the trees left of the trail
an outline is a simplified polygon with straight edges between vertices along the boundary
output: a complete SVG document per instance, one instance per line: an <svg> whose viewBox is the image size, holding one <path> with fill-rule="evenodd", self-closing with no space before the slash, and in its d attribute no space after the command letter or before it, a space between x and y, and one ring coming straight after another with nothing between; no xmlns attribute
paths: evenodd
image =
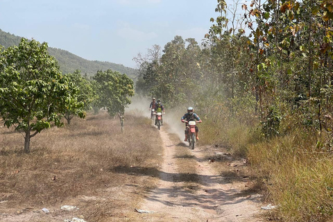
<svg viewBox="0 0 333 222"><path fill-rule="evenodd" d="M42 131L31 139L29 154L23 153L22 135L12 129L0 128L0 144L0 200L8 200L1 212L57 205L111 187L150 189L162 162L160 136L149 119L126 116L121 134L119 119L105 112ZM101 221L97 215L90 221Z"/></svg>

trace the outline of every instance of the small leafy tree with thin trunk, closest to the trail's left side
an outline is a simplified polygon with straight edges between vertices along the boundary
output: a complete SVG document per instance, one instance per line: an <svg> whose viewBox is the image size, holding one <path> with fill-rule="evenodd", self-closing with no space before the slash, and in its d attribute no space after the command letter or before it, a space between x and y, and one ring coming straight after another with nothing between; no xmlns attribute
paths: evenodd
<svg viewBox="0 0 333 222"><path fill-rule="evenodd" d="M121 132L123 132L123 116L125 108L130 104L130 96L134 96L133 80L126 74L108 69L98 71L94 80L98 83L99 105L108 110L110 116L116 114L120 119Z"/></svg>

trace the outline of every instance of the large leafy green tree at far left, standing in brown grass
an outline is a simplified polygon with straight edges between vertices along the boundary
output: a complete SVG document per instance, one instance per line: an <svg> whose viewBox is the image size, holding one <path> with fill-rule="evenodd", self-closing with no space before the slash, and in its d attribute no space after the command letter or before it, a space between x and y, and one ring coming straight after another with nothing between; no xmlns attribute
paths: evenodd
<svg viewBox="0 0 333 222"><path fill-rule="evenodd" d="M24 133L24 151L31 137L53 122L62 126L70 94L68 79L49 56L47 44L22 38L19 46L0 53L0 114L5 125Z"/></svg>

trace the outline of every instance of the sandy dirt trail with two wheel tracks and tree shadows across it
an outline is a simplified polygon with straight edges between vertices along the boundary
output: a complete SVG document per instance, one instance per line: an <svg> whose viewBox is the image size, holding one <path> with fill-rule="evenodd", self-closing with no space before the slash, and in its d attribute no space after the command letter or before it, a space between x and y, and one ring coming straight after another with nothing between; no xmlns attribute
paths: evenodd
<svg viewBox="0 0 333 222"><path fill-rule="evenodd" d="M199 189L184 189L182 182L177 181L177 144L165 130L160 130L160 135L164 142L164 163L157 188L147 194L140 207L153 213L139 214L142 221L261 221L256 216L259 196L239 195L237 187L214 172L200 148L191 151L196 160Z"/></svg>

